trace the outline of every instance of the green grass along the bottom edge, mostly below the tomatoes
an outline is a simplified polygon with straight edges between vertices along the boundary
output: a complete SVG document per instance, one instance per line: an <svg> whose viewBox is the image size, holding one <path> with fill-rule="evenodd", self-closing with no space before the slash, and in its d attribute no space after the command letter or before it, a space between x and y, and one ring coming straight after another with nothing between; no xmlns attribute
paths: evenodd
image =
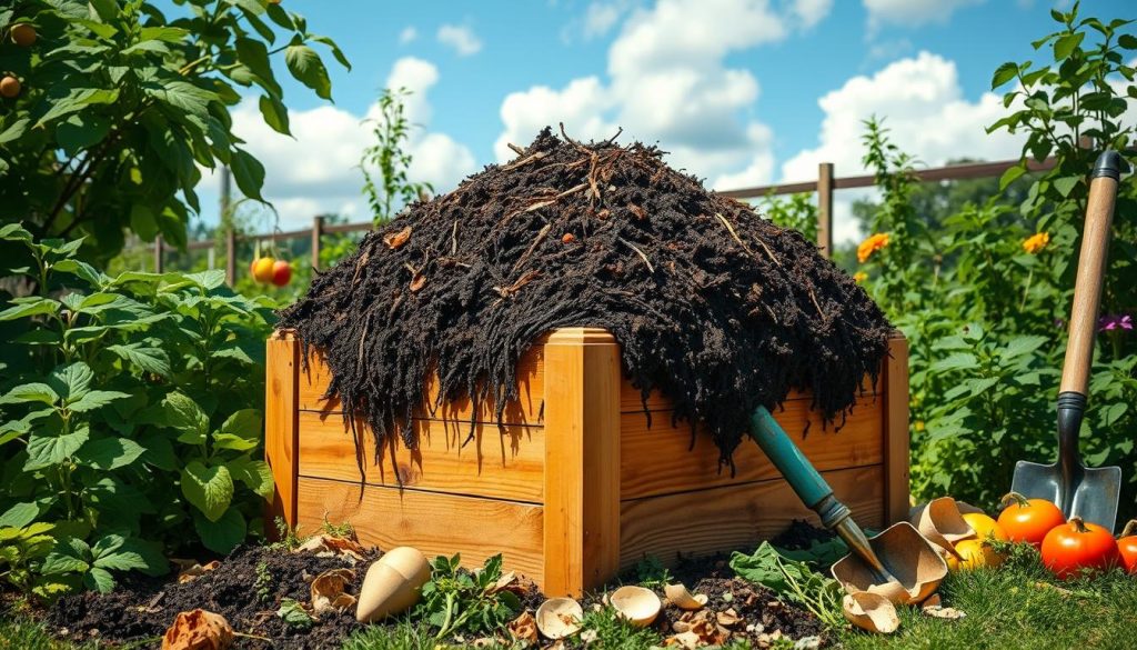
<svg viewBox="0 0 1137 650"><path fill-rule="evenodd" d="M1057 589L1055 589L1057 587ZM873 635L854 630L838 633L849 650L907 649L1128 649L1137 648L1137 576L1120 571L1095 578L1059 582L1036 559L1020 557L993 570L953 574L940 587L945 604L963 610L961 620L927 617L902 608L901 630ZM657 634L636 630L605 612L586 614L592 631L590 648L639 650L658 644ZM433 632L401 622L352 635L343 650L418 650L434 648ZM105 644L74 645L53 641L23 615L0 615L0 650L97 650Z"/></svg>

